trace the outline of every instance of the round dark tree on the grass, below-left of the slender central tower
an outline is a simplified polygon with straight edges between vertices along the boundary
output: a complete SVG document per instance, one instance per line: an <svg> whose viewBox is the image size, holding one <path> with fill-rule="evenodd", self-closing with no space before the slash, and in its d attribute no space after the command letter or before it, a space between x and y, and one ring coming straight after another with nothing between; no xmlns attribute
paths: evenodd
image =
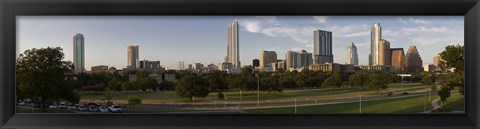
<svg viewBox="0 0 480 129"><path fill-rule="evenodd" d="M189 98L194 102L194 97L205 98L210 93L208 82L196 75L186 75L175 81L175 91L181 98Z"/></svg>

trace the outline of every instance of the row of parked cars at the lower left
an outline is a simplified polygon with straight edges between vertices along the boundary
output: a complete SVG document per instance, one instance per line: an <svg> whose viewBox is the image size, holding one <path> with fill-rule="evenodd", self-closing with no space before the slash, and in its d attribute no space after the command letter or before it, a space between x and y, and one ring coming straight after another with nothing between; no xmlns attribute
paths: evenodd
<svg viewBox="0 0 480 129"><path fill-rule="evenodd" d="M79 112L102 112L102 113L121 113L122 108L119 105L97 105L96 103L87 104L67 104L67 103L51 103L48 106L51 109L67 109Z"/></svg>

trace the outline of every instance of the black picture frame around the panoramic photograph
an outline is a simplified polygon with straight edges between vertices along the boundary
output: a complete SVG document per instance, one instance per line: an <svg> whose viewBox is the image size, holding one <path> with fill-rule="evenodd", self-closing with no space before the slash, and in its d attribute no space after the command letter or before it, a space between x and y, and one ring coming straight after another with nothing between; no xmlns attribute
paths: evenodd
<svg viewBox="0 0 480 129"><path fill-rule="evenodd" d="M465 114L15 114L15 16L460 15L465 17ZM479 128L478 0L0 0L2 128Z"/></svg>

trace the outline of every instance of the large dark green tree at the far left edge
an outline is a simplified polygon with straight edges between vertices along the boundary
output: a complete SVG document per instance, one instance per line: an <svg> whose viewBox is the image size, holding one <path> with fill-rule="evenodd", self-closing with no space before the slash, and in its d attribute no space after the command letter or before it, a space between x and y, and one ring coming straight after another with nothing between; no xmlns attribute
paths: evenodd
<svg viewBox="0 0 480 129"><path fill-rule="evenodd" d="M33 48L20 54L15 64L18 96L39 102L41 107L67 97L76 98L65 96L77 94L65 87L64 73L72 72L73 65L64 58L60 47Z"/></svg>

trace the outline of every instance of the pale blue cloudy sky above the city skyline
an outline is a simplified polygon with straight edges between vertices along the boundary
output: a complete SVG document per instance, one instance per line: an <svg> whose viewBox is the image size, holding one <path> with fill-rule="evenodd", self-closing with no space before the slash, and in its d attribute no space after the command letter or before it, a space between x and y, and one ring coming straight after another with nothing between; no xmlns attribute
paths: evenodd
<svg viewBox="0 0 480 129"><path fill-rule="evenodd" d="M391 48L417 46L423 64L447 45L464 44L463 16L17 16L17 57L27 49L62 47L73 59L73 36L85 37L85 65L125 68L127 46L139 45L140 60L177 69L224 61L226 28L237 18L241 65L251 65L262 50L313 52L313 31L333 35L335 63L344 63L347 44L357 46L359 63L368 64L370 31L380 23Z"/></svg>

